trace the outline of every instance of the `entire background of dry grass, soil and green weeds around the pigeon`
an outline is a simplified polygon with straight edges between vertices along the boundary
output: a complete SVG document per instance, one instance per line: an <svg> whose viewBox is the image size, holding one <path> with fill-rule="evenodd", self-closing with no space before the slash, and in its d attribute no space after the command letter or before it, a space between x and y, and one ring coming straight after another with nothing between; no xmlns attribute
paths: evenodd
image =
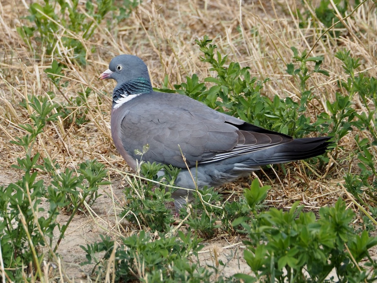
<svg viewBox="0 0 377 283"><path fill-rule="evenodd" d="M3 282L375 280L376 9L2 0ZM173 218L169 192L151 191L156 165L137 178L112 143L114 82L97 79L119 54L141 57L156 89L336 147L204 191Z"/></svg>

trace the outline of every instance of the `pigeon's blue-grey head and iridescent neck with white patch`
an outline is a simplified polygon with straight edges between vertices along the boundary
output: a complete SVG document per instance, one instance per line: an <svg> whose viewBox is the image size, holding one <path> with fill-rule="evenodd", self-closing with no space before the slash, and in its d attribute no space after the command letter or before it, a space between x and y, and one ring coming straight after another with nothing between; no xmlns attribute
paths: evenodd
<svg viewBox="0 0 377 283"><path fill-rule="evenodd" d="M110 61L109 69L98 80L112 78L117 84L113 91L113 105L119 107L136 95L152 92L147 65L135 55L119 55Z"/></svg>

